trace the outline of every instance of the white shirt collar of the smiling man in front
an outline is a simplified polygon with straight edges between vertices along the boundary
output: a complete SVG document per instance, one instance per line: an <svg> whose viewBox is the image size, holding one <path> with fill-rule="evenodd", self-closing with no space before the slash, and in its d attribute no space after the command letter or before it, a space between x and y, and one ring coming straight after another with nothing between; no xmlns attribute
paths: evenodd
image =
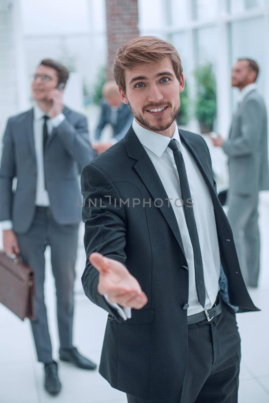
<svg viewBox="0 0 269 403"><path fill-rule="evenodd" d="M144 147L147 147L150 151L156 154L157 157L161 158L171 139L169 137L163 136L160 133L148 130L145 127L140 126L135 119L133 119L133 131L136 133L138 140ZM178 127L175 124L175 131L172 139L177 141L177 146L179 150L182 151L181 140L179 137Z"/></svg>

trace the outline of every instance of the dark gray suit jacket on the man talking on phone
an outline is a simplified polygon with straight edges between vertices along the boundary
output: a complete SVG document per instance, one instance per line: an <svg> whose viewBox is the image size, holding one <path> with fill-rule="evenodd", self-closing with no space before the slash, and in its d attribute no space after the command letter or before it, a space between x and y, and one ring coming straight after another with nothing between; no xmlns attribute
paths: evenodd
<svg viewBox="0 0 269 403"><path fill-rule="evenodd" d="M65 120L54 128L45 149L46 189L59 224L81 220L78 175L93 158L87 119L64 107ZM36 158L33 109L8 119L0 166L0 221L12 220L14 231L25 233L35 214ZM12 192L13 178L17 189Z"/></svg>

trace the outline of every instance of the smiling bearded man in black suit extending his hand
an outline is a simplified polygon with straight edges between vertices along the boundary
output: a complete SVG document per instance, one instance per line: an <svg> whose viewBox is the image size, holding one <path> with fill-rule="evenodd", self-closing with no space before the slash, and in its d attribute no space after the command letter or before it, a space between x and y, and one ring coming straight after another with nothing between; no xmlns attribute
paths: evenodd
<svg viewBox="0 0 269 403"><path fill-rule="evenodd" d="M235 312L258 308L206 144L175 125L179 54L156 37L133 39L118 50L114 77L135 118L81 174L82 283L108 311L100 374L130 403L237 402Z"/></svg>

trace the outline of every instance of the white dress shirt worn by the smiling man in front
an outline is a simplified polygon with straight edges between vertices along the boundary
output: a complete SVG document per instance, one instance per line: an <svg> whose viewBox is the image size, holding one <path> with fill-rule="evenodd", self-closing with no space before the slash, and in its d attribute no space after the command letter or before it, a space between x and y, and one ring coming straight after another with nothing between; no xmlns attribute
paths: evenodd
<svg viewBox="0 0 269 403"><path fill-rule="evenodd" d="M194 161L194 158L185 145L181 143L177 125L175 125L175 132L172 139L176 140L177 147L183 154L202 255L204 285L206 291L205 307L203 308L198 301L196 291L194 255L184 208L181 206L180 200L175 202L176 199L181 199L181 189L173 151L168 147L171 139L159 133L145 129L140 126L135 119L133 119L132 126L140 143L143 145L154 165L161 182L163 183L163 187L167 193L167 198L172 199L170 201L170 208L172 207L175 213L189 268L189 307L187 315L194 315L202 312L204 309L210 309L214 305L219 291L221 262L215 214L209 189L196 162ZM163 202L165 203L167 201ZM177 207L176 204L181 207ZM113 304L113 306L117 307L118 305ZM128 313L128 316L126 316L130 317L129 311L125 312L125 314L126 313ZM119 314L123 317L121 312L119 312ZM126 317L123 318L125 319Z"/></svg>

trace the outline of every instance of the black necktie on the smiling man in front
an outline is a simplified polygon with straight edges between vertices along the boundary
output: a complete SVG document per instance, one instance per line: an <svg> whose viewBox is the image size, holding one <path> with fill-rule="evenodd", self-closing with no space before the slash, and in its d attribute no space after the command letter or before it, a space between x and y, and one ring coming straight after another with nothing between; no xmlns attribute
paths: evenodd
<svg viewBox="0 0 269 403"><path fill-rule="evenodd" d="M204 307L205 305L205 288L204 288L204 270L202 264L202 255L200 249L200 243L198 238L198 232L196 228L196 222L194 218L193 207L186 206L187 199L191 199L190 187L188 183L188 177L186 173L186 168L184 164L184 159L179 151L175 139L171 140L169 148L173 151L175 158L175 164L177 166L177 172L179 174L179 181L181 187L181 198L183 200L183 207L186 216L186 223L190 235L190 240L192 242L192 249L194 254L194 268L195 268L195 283L198 295L198 301ZM191 201L190 201L191 202ZM194 200L195 203L195 200Z"/></svg>

